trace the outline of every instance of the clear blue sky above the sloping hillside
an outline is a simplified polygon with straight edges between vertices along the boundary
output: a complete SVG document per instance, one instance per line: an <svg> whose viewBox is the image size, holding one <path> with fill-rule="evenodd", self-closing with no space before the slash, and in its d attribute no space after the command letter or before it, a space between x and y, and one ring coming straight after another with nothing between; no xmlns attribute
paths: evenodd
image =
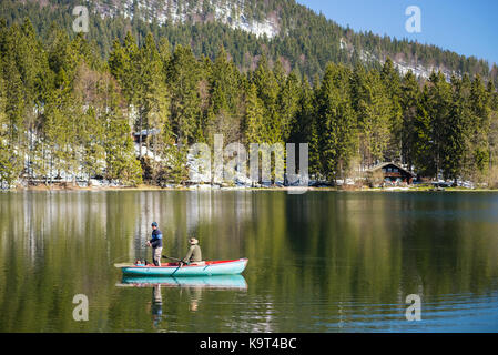
<svg viewBox="0 0 498 355"><path fill-rule="evenodd" d="M354 30L436 44L498 63L497 0L296 0ZM417 6L421 32L408 33L405 9Z"/></svg>

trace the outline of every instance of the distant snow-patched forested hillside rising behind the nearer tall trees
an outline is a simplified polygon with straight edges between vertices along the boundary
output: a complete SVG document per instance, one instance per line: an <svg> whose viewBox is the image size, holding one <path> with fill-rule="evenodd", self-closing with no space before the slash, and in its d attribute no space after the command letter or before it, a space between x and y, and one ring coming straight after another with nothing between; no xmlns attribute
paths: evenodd
<svg viewBox="0 0 498 355"><path fill-rule="evenodd" d="M273 61L280 59L287 71L295 68L308 77L322 75L329 61L375 67L390 57L402 73L479 73L498 83L496 64L490 68L485 60L435 45L358 33L294 0L2 0L0 17L8 24L29 17L47 38L53 21L72 32L72 9L82 3L91 13L87 38L96 41L104 57L126 31L139 43L150 31L173 45L190 44L196 55L214 58L223 45L243 70L254 69L263 52Z"/></svg>

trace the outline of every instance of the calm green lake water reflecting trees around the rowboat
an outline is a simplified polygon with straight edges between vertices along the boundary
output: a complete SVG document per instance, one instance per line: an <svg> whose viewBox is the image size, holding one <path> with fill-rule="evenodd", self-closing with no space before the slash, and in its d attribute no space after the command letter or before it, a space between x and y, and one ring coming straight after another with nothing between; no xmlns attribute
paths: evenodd
<svg viewBox="0 0 498 355"><path fill-rule="evenodd" d="M130 284L113 264L151 260L153 221L163 254L196 236L246 271ZM498 194L0 193L0 332L497 332Z"/></svg>

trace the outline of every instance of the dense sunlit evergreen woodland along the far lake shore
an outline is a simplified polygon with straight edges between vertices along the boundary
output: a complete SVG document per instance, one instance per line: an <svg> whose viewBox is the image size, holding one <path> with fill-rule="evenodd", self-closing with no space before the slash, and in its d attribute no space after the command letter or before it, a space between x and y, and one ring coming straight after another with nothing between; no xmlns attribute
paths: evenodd
<svg viewBox="0 0 498 355"><path fill-rule="evenodd" d="M497 180L498 95L479 75L420 84L390 60L379 70L329 63L311 85L265 55L242 72L223 48L212 61L152 34L140 47L131 33L105 61L57 27L43 44L28 19L0 24L0 58L2 181L50 183L63 171L69 181L182 182L189 144L215 133L225 144L308 142L311 172L332 182L382 161ZM161 130L144 145L165 160L136 158L131 132L144 129Z"/></svg>

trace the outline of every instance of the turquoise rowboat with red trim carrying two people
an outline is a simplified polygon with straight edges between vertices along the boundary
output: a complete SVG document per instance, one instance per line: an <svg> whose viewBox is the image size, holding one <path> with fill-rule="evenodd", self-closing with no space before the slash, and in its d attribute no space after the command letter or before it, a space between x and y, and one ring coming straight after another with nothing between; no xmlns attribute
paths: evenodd
<svg viewBox="0 0 498 355"><path fill-rule="evenodd" d="M191 264L180 267L179 263L163 263L161 266L114 264L128 276L211 276L241 274L247 265L247 258L207 261L202 265Z"/></svg>

